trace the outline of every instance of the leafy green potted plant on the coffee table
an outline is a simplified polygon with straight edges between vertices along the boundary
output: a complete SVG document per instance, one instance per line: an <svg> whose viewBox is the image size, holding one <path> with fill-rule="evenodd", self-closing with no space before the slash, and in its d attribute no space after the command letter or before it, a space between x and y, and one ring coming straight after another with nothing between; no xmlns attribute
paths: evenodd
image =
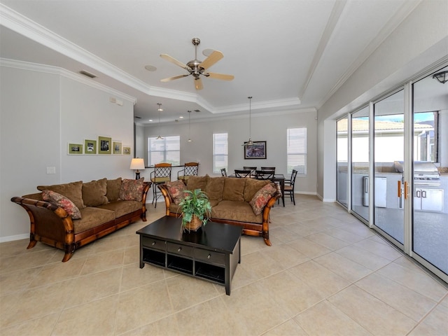
<svg viewBox="0 0 448 336"><path fill-rule="evenodd" d="M182 209L182 227L188 231L206 225L211 215L209 197L200 189L185 190L179 207Z"/></svg>

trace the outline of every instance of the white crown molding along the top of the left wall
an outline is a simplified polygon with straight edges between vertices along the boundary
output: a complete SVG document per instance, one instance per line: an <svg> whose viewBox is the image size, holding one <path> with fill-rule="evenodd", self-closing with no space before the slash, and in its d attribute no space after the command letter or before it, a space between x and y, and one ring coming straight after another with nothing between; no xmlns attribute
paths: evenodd
<svg viewBox="0 0 448 336"><path fill-rule="evenodd" d="M137 98L130 96L129 94L125 94L118 90L115 90L109 86L103 85L101 83L94 82L91 79L85 78L85 76L80 75L79 73L74 73L68 71L63 68L59 68L58 66L50 66L43 64L36 64L30 62L17 61L15 59L5 59L0 58L0 66L5 66L8 68L21 69L27 71L38 71L43 73L49 73L52 75L63 76L65 78L69 78L71 80L76 80L79 83L83 83L90 87L94 87L95 89L102 90L107 92L108 94L113 94L116 97L120 97L121 99L125 99L128 102L131 102L133 105L137 103Z"/></svg>

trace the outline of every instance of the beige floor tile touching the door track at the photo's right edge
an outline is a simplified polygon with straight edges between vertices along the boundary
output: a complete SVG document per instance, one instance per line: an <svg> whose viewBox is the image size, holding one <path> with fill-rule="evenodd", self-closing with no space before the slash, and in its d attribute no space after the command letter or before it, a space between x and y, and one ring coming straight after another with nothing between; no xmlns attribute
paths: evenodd
<svg viewBox="0 0 448 336"><path fill-rule="evenodd" d="M448 294L448 289L428 276L418 266L402 267L402 265L392 262L378 270L378 274L385 276L403 286L429 297L438 302L442 297Z"/></svg>

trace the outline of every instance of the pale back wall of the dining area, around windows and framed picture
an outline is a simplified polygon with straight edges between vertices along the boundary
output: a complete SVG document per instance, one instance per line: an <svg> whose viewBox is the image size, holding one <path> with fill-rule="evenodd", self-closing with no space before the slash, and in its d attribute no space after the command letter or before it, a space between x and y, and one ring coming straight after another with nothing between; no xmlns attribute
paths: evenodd
<svg viewBox="0 0 448 336"><path fill-rule="evenodd" d="M191 139L188 142L188 121L181 124L160 124L145 127L144 143L147 161L148 137L167 135L181 136L181 164L190 161L200 162L200 175L213 174L213 134L228 133L228 172L244 166L275 166L276 172L286 175L286 130L294 127L307 127L307 176L297 176L297 193L316 193L316 112L290 111L276 116L253 116L251 118L251 138L253 141L267 141L266 160L244 160L244 141L248 141L249 127L247 116L240 118L191 123ZM139 148L139 145L137 145ZM149 179L151 169L141 176ZM288 175L286 175L288 176ZM289 177L289 176L288 176ZM174 175L172 175L174 179Z"/></svg>

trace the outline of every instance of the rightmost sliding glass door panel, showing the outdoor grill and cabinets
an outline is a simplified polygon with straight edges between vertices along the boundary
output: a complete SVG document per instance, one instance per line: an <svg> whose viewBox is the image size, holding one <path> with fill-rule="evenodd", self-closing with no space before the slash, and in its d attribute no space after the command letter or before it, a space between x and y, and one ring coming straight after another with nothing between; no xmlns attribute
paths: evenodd
<svg viewBox="0 0 448 336"><path fill-rule="evenodd" d="M430 75L412 86L412 251L426 266L448 274L448 83Z"/></svg>

